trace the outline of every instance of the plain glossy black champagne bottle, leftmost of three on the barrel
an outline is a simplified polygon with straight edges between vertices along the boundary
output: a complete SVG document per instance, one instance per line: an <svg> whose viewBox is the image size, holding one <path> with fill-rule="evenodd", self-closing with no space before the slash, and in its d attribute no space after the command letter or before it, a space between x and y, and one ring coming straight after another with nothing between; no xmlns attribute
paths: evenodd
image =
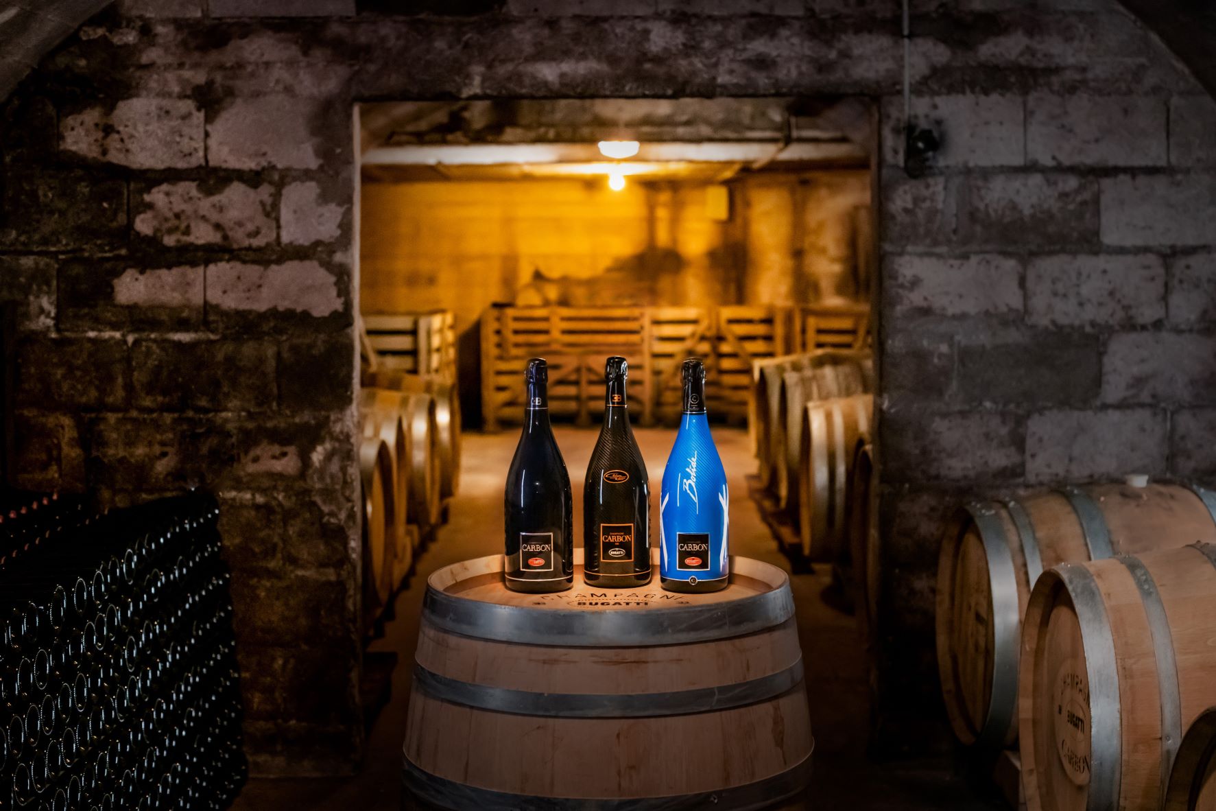
<svg viewBox="0 0 1216 811"><path fill-rule="evenodd" d="M524 429L507 471L507 588L530 593L574 585L574 516L570 477L548 424L548 365L528 361Z"/></svg>

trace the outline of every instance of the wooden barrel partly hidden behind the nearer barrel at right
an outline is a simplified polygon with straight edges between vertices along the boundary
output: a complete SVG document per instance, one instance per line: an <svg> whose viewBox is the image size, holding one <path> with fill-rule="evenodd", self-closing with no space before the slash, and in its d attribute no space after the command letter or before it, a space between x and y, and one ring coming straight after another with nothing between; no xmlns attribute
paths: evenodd
<svg viewBox="0 0 1216 811"><path fill-rule="evenodd" d="M1216 494L1104 484L967 505L938 561L938 666L955 734L996 749L1018 737L1018 640L1040 573L1066 562L1216 541Z"/></svg>

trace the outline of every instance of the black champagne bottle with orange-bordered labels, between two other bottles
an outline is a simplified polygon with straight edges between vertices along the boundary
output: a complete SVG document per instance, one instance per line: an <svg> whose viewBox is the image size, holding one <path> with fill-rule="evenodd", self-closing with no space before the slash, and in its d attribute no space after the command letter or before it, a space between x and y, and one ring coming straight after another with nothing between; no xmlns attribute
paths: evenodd
<svg viewBox="0 0 1216 811"><path fill-rule="evenodd" d="M582 486L584 578L613 588L651 581L651 483L629 424L629 364L604 365L604 421Z"/></svg>

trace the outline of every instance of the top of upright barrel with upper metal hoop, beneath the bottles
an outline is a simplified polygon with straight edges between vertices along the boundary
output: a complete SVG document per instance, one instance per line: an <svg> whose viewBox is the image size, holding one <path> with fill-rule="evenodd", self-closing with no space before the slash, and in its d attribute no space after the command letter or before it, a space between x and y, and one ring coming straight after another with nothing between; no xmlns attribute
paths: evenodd
<svg viewBox="0 0 1216 811"><path fill-rule="evenodd" d="M653 550L658 562L658 550ZM760 561L731 557L726 588L689 595L664 591L658 578L638 588L603 588L582 580L552 595L502 585L502 556L444 567L427 580L423 615L463 636L520 644L647 647L725 640L773 627L794 615L789 576Z"/></svg>

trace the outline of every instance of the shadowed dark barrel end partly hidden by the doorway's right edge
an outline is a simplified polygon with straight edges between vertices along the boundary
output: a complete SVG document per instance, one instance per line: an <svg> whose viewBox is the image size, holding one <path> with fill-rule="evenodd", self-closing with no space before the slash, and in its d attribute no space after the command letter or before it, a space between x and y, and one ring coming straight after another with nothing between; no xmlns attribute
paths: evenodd
<svg viewBox="0 0 1216 811"><path fill-rule="evenodd" d="M849 559L852 563L852 604L857 630L867 654L876 647L878 618L878 471L874 468L869 439L858 439L852 454L845 525L849 539Z"/></svg>

